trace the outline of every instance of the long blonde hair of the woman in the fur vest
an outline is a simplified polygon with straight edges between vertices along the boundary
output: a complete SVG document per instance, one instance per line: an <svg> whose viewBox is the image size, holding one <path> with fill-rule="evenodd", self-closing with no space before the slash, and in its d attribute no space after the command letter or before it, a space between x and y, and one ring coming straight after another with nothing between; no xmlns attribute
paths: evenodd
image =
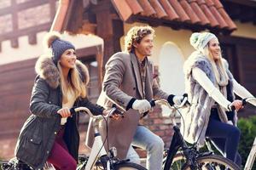
<svg viewBox="0 0 256 170"><path fill-rule="evenodd" d="M213 55L212 55L212 53L209 50L209 42L207 43L207 46L201 50L201 52L202 52L202 54L207 56L207 58L210 60L211 65L212 65L212 71L213 71L213 73L215 75L216 81L217 82L221 82L221 78L222 78L224 80L224 82L227 83L228 80L229 80L229 77L228 77L226 68L225 68L224 63L223 63L224 59L222 58L222 54L219 55L219 59L218 60L214 60L213 59ZM219 71L221 73L219 73L217 66L218 66ZM223 77L221 77L220 74Z"/></svg>

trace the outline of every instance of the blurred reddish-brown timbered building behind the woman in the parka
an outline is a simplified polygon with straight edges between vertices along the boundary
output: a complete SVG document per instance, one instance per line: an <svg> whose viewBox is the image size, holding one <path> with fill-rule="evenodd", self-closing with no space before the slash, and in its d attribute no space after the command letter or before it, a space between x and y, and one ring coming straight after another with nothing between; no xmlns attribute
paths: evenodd
<svg viewBox="0 0 256 170"><path fill-rule="evenodd" d="M28 107L36 77L35 62L39 55L44 54L43 37L50 30L59 3L63 2L0 1L0 159L14 156L20 128L30 115ZM97 88L100 87L97 63L102 58L102 39L68 34L63 38L73 42L79 59L88 66L88 94L96 102L100 90ZM81 124L86 122L88 117L82 116Z"/></svg>

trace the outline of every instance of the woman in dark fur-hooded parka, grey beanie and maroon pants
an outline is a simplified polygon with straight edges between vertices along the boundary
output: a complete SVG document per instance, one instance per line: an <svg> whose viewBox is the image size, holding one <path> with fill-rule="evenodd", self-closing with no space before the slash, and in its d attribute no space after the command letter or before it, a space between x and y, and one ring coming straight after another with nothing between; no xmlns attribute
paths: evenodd
<svg viewBox="0 0 256 170"><path fill-rule="evenodd" d="M31 116L20 131L15 156L33 169L42 169L49 161L60 170L75 170L79 155L78 116L69 111L73 106L85 106L95 115L106 115L102 106L87 99L89 73L77 60L71 42L49 32L46 45L50 53L36 63L30 100Z"/></svg>

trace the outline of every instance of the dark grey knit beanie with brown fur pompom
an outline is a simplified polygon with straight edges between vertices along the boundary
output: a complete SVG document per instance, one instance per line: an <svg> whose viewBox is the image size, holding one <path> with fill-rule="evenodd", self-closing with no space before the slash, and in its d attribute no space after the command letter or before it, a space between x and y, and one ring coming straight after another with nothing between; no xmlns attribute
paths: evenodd
<svg viewBox="0 0 256 170"><path fill-rule="evenodd" d="M55 65L57 65L58 60L61 59L61 55L67 49L75 49L71 42L61 40L61 34L55 31L49 32L48 35L46 35L46 42L48 48L52 50L52 59Z"/></svg>

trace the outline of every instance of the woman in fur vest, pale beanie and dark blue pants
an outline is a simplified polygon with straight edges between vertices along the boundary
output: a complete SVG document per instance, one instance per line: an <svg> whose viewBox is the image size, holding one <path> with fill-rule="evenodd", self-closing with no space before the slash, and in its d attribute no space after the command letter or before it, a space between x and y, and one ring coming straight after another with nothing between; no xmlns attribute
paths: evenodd
<svg viewBox="0 0 256 170"><path fill-rule="evenodd" d="M184 138L189 143L198 140L203 146L208 137L224 156L241 166L241 156L237 152L240 130L236 127L236 111L242 105L234 93L241 98L253 95L232 76L214 34L195 32L190 37L190 44L195 52L183 66L186 93L191 103L182 124ZM231 111L231 106L235 106L236 111Z"/></svg>

